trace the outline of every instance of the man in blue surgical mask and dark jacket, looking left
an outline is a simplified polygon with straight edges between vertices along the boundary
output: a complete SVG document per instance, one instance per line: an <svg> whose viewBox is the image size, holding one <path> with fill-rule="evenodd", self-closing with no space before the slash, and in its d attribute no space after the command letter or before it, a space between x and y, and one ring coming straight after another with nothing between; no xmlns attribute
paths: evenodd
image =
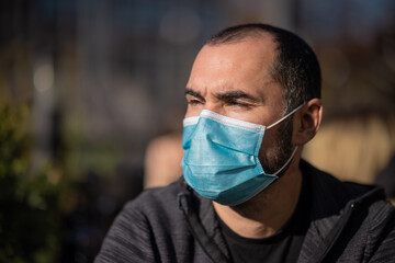
<svg viewBox="0 0 395 263"><path fill-rule="evenodd" d="M183 178L128 203L95 262L395 259L383 191L301 160L323 114L319 65L301 38L264 24L218 33L185 96Z"/></svg>

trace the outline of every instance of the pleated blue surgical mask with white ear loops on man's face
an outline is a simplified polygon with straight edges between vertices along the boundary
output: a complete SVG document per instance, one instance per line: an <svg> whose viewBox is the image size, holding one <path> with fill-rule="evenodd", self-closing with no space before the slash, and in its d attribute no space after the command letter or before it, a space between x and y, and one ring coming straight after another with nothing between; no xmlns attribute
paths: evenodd
<svg viewBox="0 0 395 263"><path fill-rule="evenodd" d="M182 160L187 183L201 196L223 205L248 201L274 180L292 160L268 174L258 159L264 132L291 116L298 106L270 126L248 123L203 110L183 119Z"/></svg>

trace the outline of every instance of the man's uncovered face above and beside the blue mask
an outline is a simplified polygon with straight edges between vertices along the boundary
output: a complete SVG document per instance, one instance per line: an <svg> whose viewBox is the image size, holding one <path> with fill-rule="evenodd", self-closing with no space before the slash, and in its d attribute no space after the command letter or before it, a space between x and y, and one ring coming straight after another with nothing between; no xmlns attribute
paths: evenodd
<svg viewBox="0 0 395 263"><path fill-rule="evenodd" d="M185 117L210 110L266 126L280 119L282 87L270 76L274 57L275 44L270 36L204 46L187 84ZM284 124L286 122L266 132L259 159L268 173L280 169L291 156L292 134L284 134Z"/></svg>

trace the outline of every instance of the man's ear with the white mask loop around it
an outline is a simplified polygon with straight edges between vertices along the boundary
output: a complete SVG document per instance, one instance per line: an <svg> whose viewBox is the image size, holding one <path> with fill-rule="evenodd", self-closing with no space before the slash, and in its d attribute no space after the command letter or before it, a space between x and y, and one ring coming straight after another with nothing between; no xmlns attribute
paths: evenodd
<svg viewBox="0 0 395 263"><path fill-rule="evenodd" d="M293 141L296 146L307 144L317 134L323 119L323 103L309 100L294 116Z"/></svg>

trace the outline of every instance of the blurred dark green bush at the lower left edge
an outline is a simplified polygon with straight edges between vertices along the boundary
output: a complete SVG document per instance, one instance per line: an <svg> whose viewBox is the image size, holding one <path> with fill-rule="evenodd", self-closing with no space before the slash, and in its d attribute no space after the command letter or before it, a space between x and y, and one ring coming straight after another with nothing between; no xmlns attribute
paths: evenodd
<svg viewBox="0 0 395 263"><path fill-rule="evenodd" d="M0 262L59 261L63 196L59 169L32 174L29 107L0 108Z"/></svg>

